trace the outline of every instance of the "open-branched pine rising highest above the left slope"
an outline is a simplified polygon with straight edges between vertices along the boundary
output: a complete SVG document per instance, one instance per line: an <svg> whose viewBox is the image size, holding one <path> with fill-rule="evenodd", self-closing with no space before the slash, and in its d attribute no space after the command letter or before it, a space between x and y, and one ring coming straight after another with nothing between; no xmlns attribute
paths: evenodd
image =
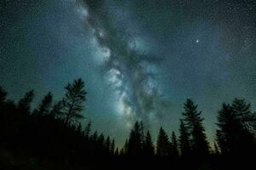
<svg viewBox="0 0 256 170"><path fill-rule="evenodd" d="M65 123L76 122L78 119L84 118L80 114L83 110L83 102L85 101L84 82L81 78L75 80L73 84L67 84L65 98L63 99L63 114Z"/></svg>

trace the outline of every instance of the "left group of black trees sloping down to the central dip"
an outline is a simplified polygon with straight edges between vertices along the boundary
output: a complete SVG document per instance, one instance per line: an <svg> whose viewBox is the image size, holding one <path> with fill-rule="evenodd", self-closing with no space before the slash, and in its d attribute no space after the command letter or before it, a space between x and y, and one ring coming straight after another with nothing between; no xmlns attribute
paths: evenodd
<svg viewBox="0 0 256 170"><path fill-rule="evenodd" d="M86 99L80 78L67 84L60 101L46 94L34 110L33 91L17 104L6 96L0 88L0 169L72 169L114 156L114 139L79 123Z"/></svg>

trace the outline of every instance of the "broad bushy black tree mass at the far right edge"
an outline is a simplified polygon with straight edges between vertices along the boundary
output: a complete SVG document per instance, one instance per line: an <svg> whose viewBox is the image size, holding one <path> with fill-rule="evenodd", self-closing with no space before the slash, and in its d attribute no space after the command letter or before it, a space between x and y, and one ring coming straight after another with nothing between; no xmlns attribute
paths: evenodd
<svg viewBox="0 0 256 170"><path fill-rule="evenodd" d="M232 105L223 104L218 111L218 146L224 156L246 156L255 150L253 113L244 99L234 99Z"/></svg>

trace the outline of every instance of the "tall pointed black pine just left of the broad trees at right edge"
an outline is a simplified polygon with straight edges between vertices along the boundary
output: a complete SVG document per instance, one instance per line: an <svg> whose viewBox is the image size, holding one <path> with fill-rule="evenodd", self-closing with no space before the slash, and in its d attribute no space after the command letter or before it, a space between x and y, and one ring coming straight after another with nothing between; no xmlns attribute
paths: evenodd
<svg viewBox="0 0 256 170"><path fill-rule="evenodd" d="M202 125L204 119L201 118L201 111L197 111L197 105L191 99L187 99L183 108L185 110L183 112L183 120L189 128L193 154L203 158L209 154L209 145Z"/></svg>

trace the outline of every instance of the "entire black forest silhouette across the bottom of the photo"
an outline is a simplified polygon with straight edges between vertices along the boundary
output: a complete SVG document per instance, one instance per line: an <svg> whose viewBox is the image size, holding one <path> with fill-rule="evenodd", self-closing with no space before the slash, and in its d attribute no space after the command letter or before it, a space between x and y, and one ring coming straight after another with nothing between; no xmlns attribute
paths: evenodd
<svg viewBox="0 0 256 170"><path fill-rule="evenodd" d="M191 99L183 105L179 133L160 127L157 142L143 122L136 122L123 148L114 139L91 132L91 123L80 124L86 100L81 78L64 88L65 95L54 102L46 94L34 110L33 91L18 103L7 99L0 88L0 168L1 169L81 169L171 167L221 169L253 164L256 153L256 114L244 99L223 104L218 111L216 138L207 141L203 117ZM21 169L22 169L21 168Z"/></svg>

